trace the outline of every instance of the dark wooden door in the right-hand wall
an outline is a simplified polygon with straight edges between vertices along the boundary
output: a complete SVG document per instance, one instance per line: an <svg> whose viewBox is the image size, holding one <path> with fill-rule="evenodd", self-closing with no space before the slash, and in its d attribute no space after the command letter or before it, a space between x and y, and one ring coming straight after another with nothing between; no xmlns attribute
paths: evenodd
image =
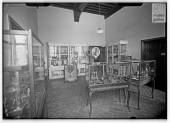
<svg viewBox="0 0 170 123"><path fill-rule="evenodd" d="M159 37L142 40L141 59L156 60L155 88L167 91L167 39Z"/></svg>

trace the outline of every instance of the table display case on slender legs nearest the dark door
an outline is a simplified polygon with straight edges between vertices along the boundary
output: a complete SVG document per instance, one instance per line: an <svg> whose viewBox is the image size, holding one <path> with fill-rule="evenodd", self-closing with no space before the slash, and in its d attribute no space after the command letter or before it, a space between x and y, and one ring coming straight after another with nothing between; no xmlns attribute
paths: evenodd
<svg viewBox="0 0 170 123"><path fill-rule="evenodd" d="M140 101L140 89L141 86L152 82L152 98L154 97L155 88L155 76L156 76L156 61L132 61L131 65L131 79L129 81L131 86L136 87L138 93L138 109ZM131 89L131 91L135 91Z"/></svg>

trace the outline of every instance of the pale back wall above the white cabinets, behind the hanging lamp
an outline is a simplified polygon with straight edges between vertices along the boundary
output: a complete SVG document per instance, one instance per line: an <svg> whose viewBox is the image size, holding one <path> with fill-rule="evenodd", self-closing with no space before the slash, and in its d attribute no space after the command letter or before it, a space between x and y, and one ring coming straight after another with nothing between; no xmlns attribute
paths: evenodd
<svg viewBox="0 0 170 123"><path fill-rule="evenodd" d="M74 22L72 10L42 7L37 12L39 37L44 43L105 45L105 34L96 33L98 27L105 28L103 16L83 12L79 22Z"/></svg>

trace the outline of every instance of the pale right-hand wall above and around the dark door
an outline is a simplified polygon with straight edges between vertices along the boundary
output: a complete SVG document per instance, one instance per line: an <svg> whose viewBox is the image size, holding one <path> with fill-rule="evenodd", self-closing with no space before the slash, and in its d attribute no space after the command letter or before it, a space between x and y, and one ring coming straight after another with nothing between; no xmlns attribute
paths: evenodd
<svg viewBox="0 0 170 123"><path fill-rule="evenodd" d="M126 7L105 21L106 44L128 40L128 53L141 57L141 40L165 35L165 24L152 23L152 4Z"/></svg>

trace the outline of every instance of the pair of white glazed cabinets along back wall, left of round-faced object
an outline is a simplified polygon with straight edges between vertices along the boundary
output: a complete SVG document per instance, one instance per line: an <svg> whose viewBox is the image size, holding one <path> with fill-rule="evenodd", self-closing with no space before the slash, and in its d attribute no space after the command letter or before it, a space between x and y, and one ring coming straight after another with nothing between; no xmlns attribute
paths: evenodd
<svg viewBox="0 0 170 123"><path fill-rule="evenodd" d="M76 64L78 76L85 76L88 46L47 43L47 63L49 79L64 78L64 66Z"/></svg>

